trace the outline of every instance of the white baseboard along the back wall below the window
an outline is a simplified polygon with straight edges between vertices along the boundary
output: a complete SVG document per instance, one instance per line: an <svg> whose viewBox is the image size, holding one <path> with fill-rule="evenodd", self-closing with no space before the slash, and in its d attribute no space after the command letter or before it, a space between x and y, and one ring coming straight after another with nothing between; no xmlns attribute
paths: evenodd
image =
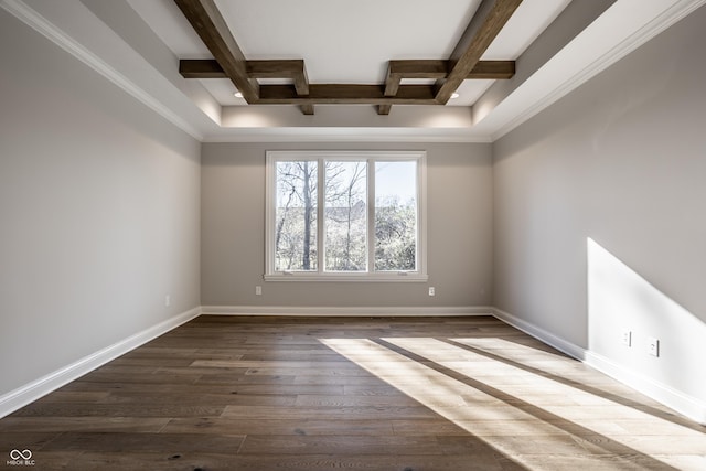
<svg viewBox="0 0 706 471"><path fill-rule="evenodd" d="M291 307L291 306L202 306L210 315L307 315L307 317L456 317L493 315L490 306L469 307Z"/></svg>

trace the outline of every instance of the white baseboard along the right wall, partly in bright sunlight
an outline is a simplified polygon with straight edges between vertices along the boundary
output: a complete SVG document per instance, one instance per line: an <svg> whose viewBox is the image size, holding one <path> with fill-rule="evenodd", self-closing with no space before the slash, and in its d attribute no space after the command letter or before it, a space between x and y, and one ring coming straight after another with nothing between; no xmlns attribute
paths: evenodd
<svg viewBox="0 0 706 471"><path fill-rule="evenodd" d="M556 350L564 352L567 355L612 377L613 379L644 394L645 396L664 404L683 416L702 425L706 425L706 403L704 400L699 400L663 383L655 382L646 376L630 371L605 356L567 342L553 333L518 319L503 310L493 309L493 313L501 321L520 329L547 345L550 345Z"/></svg>

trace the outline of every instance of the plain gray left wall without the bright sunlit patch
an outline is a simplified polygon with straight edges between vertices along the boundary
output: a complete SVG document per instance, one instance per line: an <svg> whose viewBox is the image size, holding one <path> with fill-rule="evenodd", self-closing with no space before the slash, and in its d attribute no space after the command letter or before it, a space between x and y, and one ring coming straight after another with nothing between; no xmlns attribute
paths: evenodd
<svg viewBox="0 0 706 471"><path fill-rule="evenodd" d="M199 306L200 144L4 11L0 63L2 395Z"/></svg>

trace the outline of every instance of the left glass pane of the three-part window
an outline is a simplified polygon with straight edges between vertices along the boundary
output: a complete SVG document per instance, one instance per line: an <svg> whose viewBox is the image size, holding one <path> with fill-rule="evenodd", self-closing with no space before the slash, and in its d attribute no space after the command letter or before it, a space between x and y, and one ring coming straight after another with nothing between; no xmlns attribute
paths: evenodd
<svg viewBox="0 0 706 471"><path fill-rule="evenodd" d="M317 270L317 161L279 161L275 270Z"/></svg>

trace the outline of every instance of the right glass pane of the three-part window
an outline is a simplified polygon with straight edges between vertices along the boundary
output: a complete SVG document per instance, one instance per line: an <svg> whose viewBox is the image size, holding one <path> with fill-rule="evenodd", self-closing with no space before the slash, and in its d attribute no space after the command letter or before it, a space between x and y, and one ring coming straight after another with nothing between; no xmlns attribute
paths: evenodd
<svg viewBox="0 0 706 471"><path fill-rule="evenodd" d="M417 162L375 163L375 270L417 269Z"/></svg>

